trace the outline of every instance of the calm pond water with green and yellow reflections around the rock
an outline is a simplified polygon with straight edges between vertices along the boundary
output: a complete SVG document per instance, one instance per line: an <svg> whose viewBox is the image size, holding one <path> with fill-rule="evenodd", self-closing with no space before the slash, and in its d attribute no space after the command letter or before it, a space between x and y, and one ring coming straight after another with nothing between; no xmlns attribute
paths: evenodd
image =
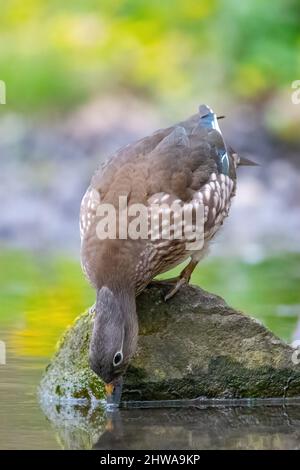
<svg viewBox="0 0 300 470"><path fill-rule="evenodd" d="M300 336L300 255L256 263L216 259L193 278L284 340ZM0 254L0 449L290 449L300 447L297 404L134 408L40 405L37 386L60 334L93 302L79 263Z"/></svg>

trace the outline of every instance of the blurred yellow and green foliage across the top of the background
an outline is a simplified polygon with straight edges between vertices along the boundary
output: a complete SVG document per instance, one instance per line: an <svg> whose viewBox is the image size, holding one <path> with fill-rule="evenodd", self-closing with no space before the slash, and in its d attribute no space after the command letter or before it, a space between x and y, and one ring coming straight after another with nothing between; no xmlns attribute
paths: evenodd
<svg viewBox="0 0 300 470"><path fill-rule="evenodd" d="M8 0L1 78L30 113L124 91L168 108L203 89L264 100L299 77L299 22L297 0Z"/></svg>

